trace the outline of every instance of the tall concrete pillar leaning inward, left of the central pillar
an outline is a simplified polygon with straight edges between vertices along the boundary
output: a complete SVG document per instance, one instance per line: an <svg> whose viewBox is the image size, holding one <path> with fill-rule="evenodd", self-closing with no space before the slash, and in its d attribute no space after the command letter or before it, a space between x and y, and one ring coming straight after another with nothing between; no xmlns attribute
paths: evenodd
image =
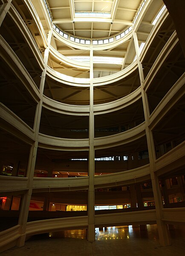
<svg viewBox="0 0 185 256"><path fill-rule="evenodd" d="M35 161L36 161L37 149L38 149L38 132L39 132L40 116L41 116L41 109L42 109L42 102L43 102L43 88L44 88L45 77L46 77L46 68L47 68L47 62L49 57L49 48L50 48L51 38L52 38L52 29L49 31L48 46L44 52L44 69L40 79L40 101L36 108L34 128L33 128L35 132L35 142L32 144L32 147L30 149L29 162L28 162L28 171L27 171L28 191L23 196L23 200L20 208L20 216L19 216L20 238L17 241L18 247L21 247L24 245L25 238L26 238L26 224L27 224L27 219L29 214L29 204L32 196Z"/></svg>

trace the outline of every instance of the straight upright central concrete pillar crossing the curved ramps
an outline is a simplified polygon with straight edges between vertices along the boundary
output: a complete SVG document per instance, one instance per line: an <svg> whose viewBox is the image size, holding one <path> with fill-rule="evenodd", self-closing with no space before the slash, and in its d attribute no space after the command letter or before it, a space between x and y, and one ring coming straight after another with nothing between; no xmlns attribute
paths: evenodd
<svg viewBox="0 0 185 256"><path fill-rule="evenodd" d="M88 234L87 240L95 240L95 193L94 193L94 173L95 173L95 153L94 153L94 113L93 113L93 49L90 49L90 117L89 117L89 193L88 193Z"/></svg>

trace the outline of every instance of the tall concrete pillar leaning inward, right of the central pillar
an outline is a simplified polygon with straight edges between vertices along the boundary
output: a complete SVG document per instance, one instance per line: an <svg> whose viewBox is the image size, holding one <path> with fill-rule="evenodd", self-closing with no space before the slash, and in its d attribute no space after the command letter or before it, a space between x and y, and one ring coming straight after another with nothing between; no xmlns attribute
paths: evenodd
<svg viewBox="0 0 185 256"><path fill-rule="evenodd" d="M155 154L155 147L153 142L153 134L149 127L150 125L150 111L147 101L147 94L144 90L144 74L142 70L142 63L140 62L140 56L139 56L139 44L138 44L138 38L135 31L133 31L133 39L136 49L136 56L137 56L137 63L139 68L139 77L141 81L141 92L142 92L142 101L143 101L143 109L144 109L144 115L145 115L145 124L146 124L146 137L147 137L147 145L148 145L148 153L149 153L149 159L150 159L150 176L152 180L152 187L153 187L153 196L156 204L156 222L158 227L158 233L159 233L159 241L162 246L168 246L171 244L170 234L168 231L167 225L162 221L163 218L163 205L162 205L162 197L161 197L161 191L159 186L159 180L156 176L155 170L156 170L156 154Z"/></svg>

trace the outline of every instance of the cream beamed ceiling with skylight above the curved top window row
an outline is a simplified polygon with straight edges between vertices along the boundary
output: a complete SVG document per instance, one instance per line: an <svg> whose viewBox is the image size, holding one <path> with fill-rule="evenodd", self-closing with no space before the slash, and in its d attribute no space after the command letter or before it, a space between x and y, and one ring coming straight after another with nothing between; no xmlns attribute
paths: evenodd
<svg viewBox="0 0 185 256"><path fill-rule="evenodd" d="M48 0L54 24L84 38L106 38L126 29L141 3L141 0ZM88 15L78 16L76 12ZM92 12L96 16L92 17ZM110 17L98 16L100 13Z"/></svg>

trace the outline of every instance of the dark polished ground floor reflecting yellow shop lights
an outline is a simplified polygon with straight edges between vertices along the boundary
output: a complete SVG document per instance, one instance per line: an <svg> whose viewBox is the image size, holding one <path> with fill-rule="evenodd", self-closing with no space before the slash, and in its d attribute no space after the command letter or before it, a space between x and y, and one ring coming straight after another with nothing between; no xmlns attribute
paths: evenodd
<svg viewBox="0 0 185 256"><path fill-rule="evenodd" d="M21 248L1 256L181 256L185 255L185 227L170 230L172 245L161 247L156 225L95 229L95 242L86 240L86 230L68 230L35 235Z"/></svg>

